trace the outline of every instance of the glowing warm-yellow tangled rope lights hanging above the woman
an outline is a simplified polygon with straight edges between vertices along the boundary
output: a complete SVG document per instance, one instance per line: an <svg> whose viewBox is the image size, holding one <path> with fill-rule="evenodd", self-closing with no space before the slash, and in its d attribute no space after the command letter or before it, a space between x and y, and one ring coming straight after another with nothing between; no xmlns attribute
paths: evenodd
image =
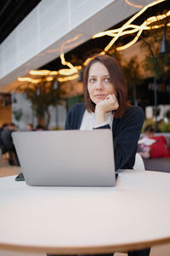
<svg viewBox="0 0 170 256"><path fill-rule="evenodd" d="M155 25L155 26L150 26L151 23L156 22L158 20L163 20L165 18L167 18L167 16L170 15L170 11L167 12L166 15L157 15L157 16L153 16L148 18L147 20L144 20L143 24L140 26L137 25L133 25L132 22L133 20L137 19L139 17L139 15L142 15L144 13L144 11L148 8L150 8L151 6L154 6L158 3L162 3L166 0L156 0L146 6L144 6L143 9L139 10L139 12L135 15L133 15L133 17L130 20L127 20L127 22L120 28L116 28L116 29L112 29L109 31L105 31L105 32L99 32L97 34L95 34L92 38L100 38L103 36L110 36L112 37L112 40L109 44L106 45L105 49L100 52L100 55L105 55L105 53L111 49L111 46L116 42L116 40L118 38L121 38L124 35L127 34L133 34L135 32L137 32L135 38L133 38L133 40L131 40L131 42L123 45L123 46L119 46L116 47L116 50L122 50L122 49L127 49L128 47L132 46L134 43L137 42L137 40L139 39L141 33L144 30L150 30L150 29L157 29L160 28L161 26L164 26L164 24L161 25ZM142 5L135 5L133 3L130 3L128 0L125 0L125 2L133 7L136 8L142 8ZM170 26L170 23L167 23L167 26ZM58 78L59 82L65 82L68 80L72 80L72 79L77 79L79 77L78 73L80 73L80 71L82 70L82 66L73 66L71 64L71 62L69 61L65 61L65 55L64 55L64 49L69 48L69 47L74 47L76 44L80 44L80 41L75 43L75 44L71 44L72 42L76 41L78 38L80 38L82 36L82 34L78 34L76 37L68 39L67 41L65 41L61 47L60 47L60 60L62 65L67 66L69 68L62 68L59 69L58 71L49 71L49 70L31 70L30 74L31 75L41 75L41 76L56 76L56 75L62 75L62 76L66 76L65 78ZM82 40L83 41L83 40ZM88 60L86 60L83 65L87 66L88 62L91 61L92 58L88 58ZM48 77L46 80L47 81L52 81L54 78L53 77ZM31 78L18 78L19 81L29 81L33 84L38 84L42 81L42 79L31 79Z"/></svg>

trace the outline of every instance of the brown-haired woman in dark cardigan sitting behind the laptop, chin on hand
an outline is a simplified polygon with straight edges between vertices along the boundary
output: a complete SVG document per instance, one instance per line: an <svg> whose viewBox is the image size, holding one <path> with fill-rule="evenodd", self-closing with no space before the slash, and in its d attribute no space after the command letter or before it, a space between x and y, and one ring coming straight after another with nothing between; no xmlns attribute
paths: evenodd
<svg viewBox="0 0 170 256"><path fill-rule="evenodd" d="M141 108L131 107L127 102L122 68L113 57L96 55L85 69L83 86L85 103L71 108L65 129L111 129L116 170L133 169L144 113ZM149 254L150 249L146 249L130 252L128 256ZM112 256L113 253L103 255Z"/></svg>

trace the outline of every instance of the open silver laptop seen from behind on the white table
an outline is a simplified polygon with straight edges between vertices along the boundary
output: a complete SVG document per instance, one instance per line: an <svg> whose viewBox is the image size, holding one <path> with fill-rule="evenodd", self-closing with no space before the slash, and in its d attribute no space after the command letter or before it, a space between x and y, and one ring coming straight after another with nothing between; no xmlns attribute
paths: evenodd
<svg viewBox="0 0 170 256"><path fill-rule="evenodd" d="M19 131L12 137L28 185L115 186L109 129Z"/></svg>

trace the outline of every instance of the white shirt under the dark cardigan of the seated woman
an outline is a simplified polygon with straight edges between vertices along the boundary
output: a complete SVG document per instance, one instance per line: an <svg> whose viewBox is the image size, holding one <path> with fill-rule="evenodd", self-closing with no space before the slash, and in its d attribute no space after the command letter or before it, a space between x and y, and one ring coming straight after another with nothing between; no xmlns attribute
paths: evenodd
<svg viewBox="0 0 170 256"><path fill-rule="evenodd" d="M89 113L86 109L82 116L82 124L80 126L80 130L93 130L93 128L108 124L112 127L113 118L114 115L112 112L105 113L105 123L101 125L95 125L95 113Z"/></svg>

